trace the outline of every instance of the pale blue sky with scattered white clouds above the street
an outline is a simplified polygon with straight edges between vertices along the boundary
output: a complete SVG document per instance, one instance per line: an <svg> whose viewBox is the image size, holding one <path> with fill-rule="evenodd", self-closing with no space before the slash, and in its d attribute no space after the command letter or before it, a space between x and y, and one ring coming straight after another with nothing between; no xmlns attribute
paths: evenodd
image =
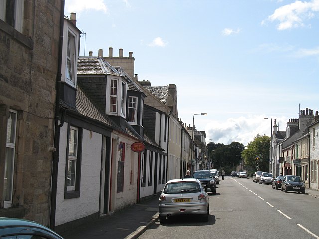
<svg viewBox="0 0 319 239"><path fill-rule="evenodd" d="M139 81L177 86L178 118L206 144L319 110L319 0L65 0L71 12L81 56L132 51Z"/></svg>

